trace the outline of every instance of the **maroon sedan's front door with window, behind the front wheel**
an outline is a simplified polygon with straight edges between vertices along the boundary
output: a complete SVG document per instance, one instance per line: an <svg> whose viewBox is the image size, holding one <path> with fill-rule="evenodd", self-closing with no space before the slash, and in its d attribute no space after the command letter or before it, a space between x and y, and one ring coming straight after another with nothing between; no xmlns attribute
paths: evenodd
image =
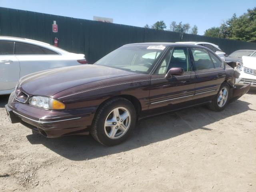
<svg viewBox="0 0 256 192"><path fill-rule="evenodd" d="M191 71L190 54L187 47L171 47L158 68L152 74L149 109L165 106L174 110L186 106L194 97L194 72ZM184 69L181 76L164 76L172 67Z"/></svg>

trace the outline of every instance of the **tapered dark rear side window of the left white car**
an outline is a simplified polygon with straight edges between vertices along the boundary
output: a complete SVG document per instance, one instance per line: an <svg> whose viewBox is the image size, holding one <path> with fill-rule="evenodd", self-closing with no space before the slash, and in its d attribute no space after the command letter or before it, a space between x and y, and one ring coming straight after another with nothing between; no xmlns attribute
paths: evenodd
<svg viewBox="0 0 256 192"><path fill-rule="evenodd" d="M14 54L16 55L48 55L48 54L52 55L52 54L58 54L58 53L37 45L22 43L22 42L15 42Z"/></svg>

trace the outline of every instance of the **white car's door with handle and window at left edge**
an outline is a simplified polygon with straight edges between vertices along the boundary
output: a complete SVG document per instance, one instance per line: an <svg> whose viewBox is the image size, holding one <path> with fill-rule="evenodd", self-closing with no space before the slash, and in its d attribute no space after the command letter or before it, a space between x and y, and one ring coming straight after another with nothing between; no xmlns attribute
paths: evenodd
<svg viewBox="0 0 256 192"><path fill-rule="evenodd" d="M20 78L20 63L13 53L14 42L0 40L0 90L15 88Z"/></svg>

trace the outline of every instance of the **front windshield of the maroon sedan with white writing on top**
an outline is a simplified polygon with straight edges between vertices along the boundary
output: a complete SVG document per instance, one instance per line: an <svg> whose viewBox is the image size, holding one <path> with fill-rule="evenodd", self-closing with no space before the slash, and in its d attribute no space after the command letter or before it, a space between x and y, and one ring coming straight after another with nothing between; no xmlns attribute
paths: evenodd
<svg viewBox="0 0 256 192"><path fill-rule="evenodd" d="M126 45L107 54L95 64L149 74L166 46Z"/></svg>

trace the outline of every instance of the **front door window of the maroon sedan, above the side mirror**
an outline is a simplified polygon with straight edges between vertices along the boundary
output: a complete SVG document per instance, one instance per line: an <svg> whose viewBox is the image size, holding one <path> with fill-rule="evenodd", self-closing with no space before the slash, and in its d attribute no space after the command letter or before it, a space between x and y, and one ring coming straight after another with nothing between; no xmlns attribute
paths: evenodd
<svg viewBox="0 0 256 192"><path fill-rule="evenodd" d="M190 71L190 58L188 48L174 47L156 69L155 74L166 74L172 67L183 68L184 72Z"/></svg>

